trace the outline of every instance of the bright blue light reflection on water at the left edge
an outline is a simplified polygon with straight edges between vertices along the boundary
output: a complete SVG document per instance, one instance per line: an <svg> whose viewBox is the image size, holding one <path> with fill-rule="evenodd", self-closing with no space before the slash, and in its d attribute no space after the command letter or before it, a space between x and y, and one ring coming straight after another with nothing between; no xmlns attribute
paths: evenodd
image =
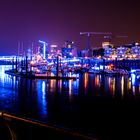
<svg viewBox="0 0 140 140"><path fill-rule="evenodd" d="M1 110L14 110L16 106L17 98L17 86L18 82L16 78L13 78L5 74L5 70L11 68L11 66L0 66L0 109Z"/></svg>

